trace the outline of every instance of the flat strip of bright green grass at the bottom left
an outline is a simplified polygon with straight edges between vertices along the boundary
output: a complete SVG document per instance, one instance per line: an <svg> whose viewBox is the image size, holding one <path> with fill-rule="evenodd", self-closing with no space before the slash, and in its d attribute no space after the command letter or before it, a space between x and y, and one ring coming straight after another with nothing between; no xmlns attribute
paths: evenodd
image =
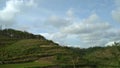
<svg viewBox="0 0 120 68"><path fill-rule="evenodd" d="M29 62L29 63L18 63L18 64L2 64L0 68L28 68L28 67L43 67L53 64L46 64L44 62Z"/></svg>

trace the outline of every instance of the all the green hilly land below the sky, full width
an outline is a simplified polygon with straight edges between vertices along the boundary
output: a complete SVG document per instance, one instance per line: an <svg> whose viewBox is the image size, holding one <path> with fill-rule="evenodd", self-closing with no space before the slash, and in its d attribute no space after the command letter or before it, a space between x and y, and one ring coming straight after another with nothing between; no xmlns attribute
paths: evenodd
<svg viewBox="0 0 120 68"><path fill-rule="evenodd" d="M120 68L120 43L80 49L41 35L0 30L0 68Z"/></svg>

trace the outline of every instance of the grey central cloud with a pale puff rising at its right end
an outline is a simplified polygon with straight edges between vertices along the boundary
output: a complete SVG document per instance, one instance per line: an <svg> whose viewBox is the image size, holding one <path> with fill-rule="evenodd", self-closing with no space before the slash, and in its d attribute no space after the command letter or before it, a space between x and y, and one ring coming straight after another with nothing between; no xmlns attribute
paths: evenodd
<svg viewBox="0 0 120 68"><path fill-rule="evenodd" d="M60 17L57 15L52 15L46 19L45 23L47 23L47 25L50 25L59 29L72 24L74 18L75 17L74 17L73 8L70 8L66 11L66 16Z"/></svg>

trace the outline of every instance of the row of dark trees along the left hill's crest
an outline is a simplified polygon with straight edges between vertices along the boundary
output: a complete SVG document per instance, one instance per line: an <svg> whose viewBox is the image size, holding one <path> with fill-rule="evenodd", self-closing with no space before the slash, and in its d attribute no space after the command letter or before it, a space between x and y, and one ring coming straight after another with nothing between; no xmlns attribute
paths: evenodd
<svg viewBox="0 0 120 68"><path fill-rule="evenodd" d="M32 33L28 33L26 31L19 31L14 29L4 29L0 30L0 35L12 38L12 39L41 39L45 40L45 38L41 35L34 35Z"/></svg>

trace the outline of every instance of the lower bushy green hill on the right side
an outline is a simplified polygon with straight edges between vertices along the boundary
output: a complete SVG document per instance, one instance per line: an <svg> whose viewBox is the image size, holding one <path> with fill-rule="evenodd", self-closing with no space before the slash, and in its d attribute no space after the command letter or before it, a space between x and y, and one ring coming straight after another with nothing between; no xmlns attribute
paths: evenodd
<svg viewBox="0 0 120 68"><path fill-rule="evenodd" d="M67 47L80 59L76 64L86 63L96 65L96 68L120 68L120 43L115 42L112 46L90 47L87 49ZM77 57L74 57L77 58ZM83 60L83 61L81 61ZM81 62L80 62L81 61Z"/></svg>

